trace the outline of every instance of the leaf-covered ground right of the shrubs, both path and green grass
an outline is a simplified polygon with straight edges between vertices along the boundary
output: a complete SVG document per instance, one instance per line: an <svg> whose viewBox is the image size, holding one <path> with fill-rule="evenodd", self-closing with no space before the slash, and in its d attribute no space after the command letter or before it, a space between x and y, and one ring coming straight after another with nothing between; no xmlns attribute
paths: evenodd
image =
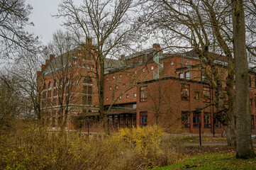
<svg viewBox="0 0 256 170"><path fill-rule="evenodd" d="M187 137L182 140L184 159L158 169L256 169L255 159L235 159L235 147L228 147L223 137ZM256 139L252 139L256 152Z"/></svg>

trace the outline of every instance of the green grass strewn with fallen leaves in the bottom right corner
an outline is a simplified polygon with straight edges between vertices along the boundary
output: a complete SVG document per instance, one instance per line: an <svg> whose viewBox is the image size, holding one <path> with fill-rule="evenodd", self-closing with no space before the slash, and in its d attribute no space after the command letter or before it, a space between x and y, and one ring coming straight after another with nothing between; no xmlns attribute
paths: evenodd
<svg viewBox="0 0 256 170"><path fill-rule="evenodd" d="M256 158L235 159L235 152L197 154L177 164L157 169L256 169Z"/></svg>

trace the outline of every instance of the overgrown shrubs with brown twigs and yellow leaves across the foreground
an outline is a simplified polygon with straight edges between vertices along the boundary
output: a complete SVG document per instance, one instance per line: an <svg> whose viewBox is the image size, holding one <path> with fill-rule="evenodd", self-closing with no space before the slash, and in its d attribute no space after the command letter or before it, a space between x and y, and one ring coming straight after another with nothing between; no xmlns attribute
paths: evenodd
<svg viewBox="0 0 256 170"><path fill-rule="evenodd" d="M156 126L101 137L60 135L38 123L12 129L0 138L0 169L150 169L182 158L179 144Z"/></svg>

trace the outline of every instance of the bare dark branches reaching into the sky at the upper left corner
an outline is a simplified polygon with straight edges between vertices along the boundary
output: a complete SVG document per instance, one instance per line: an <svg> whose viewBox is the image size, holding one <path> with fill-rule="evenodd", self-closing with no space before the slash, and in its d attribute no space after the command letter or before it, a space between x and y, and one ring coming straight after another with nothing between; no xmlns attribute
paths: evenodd
<svg viewBox="0 0 256 170"><path fill-rule="evenodd" d="M33 26L28 16L32 11L24 0L0 1L0 58L14 57L17 50L35 52L38 38L24 30L26 26Z"/></svg>

